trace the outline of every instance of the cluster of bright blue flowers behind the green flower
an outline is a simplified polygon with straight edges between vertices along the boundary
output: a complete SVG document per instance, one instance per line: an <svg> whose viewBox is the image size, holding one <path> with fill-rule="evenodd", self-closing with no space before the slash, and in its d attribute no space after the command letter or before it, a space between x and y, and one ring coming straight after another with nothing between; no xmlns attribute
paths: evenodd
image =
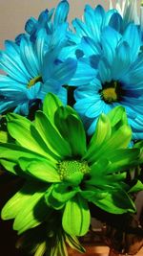
<svg viewBox="0 0 143 256"><path fill-rule="evenodd" d="M72 92L72 105L89 135L101 113L123 105L133 140L143 139L141 26L116 9L87 5L84 20L76 18L70 27L68 12L63 0L55 10L29 19L26 34L6 41L0 52L0 113L28 116L48 92L66 105Z"/></svg>

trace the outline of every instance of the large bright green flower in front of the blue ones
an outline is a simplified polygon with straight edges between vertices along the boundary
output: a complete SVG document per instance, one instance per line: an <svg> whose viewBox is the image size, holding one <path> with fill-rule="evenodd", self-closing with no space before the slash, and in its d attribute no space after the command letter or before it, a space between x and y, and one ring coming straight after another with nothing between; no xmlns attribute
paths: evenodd
<svg viewBox="0 0 143 256"><path fill-rule="evenodd" d="M127 148L132 131L122 106L100 116L88 145L77 113L52 94L33 122L14 113L8 120L15 144L0 145L0 162L27 181L6 203L2 218L14 219L19 234L60 211L64 231L83 236L91 221L88 202L113 214L135 211L124 180L140 151Z"/></svg>

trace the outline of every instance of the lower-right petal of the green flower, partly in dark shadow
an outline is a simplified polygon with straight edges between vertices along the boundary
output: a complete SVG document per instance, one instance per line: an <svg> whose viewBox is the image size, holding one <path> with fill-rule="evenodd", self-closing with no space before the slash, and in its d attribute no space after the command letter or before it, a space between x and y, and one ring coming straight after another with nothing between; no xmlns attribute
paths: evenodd
<svg viewBox="0 0 143 256"><path fill-rule="evenodd" d="M106 198L99 200L92 198L92 203L102 210L112 214L134 213L136 211L133 200L123 189L119 187L110 189L107 186L104 190L108 193Z"/></svg>

